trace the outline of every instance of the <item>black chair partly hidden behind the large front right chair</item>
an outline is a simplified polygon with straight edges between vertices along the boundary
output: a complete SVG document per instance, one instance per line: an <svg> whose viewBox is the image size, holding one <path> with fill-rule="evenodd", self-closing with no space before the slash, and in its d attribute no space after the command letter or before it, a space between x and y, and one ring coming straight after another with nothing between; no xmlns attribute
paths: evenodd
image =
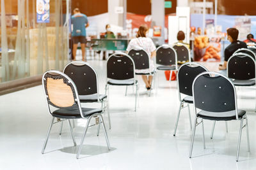
<svg viewBox="0 0 256 170"><path fill-rule="evenodd" d="M190 109L189 109L189 104L193 104L192 83L198 74L203 73L205 71L208 71L208 70L204 66L196 62L187 62L185 64L182 64L182 66L180 66L179 68L179 71L177 74L177 82L178 82L180 108L176 118L173 136L176 135L177 126L178 126L179 117L180 117L180 111L183 108L188 107L189 122L190 122L190 127L192 129L191 115L190 115ZM181 95L185 95L185 97L181 97ZM188 105L184 106L185 103Z"/></svg>

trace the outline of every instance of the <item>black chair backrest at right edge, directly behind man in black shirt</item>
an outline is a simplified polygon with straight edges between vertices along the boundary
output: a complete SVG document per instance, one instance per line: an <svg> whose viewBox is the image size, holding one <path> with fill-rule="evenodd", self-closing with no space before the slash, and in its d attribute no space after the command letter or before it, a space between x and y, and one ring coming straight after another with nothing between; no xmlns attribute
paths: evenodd
<svg viewBox="0 0 256 170"><path fill-rule="evenodd" d="M235 53L228 59L227 76L236 80L255 78L255 60L247 53Z"/></svg>

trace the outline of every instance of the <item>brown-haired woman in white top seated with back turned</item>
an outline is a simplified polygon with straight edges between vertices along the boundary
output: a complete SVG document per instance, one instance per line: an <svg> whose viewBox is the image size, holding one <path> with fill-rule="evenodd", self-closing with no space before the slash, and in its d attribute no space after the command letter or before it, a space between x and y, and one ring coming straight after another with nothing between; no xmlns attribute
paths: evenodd
<svg viewBox="0 0 256 170"><path fill-rule="evenodd" d="M153 41L151 38L147 37L148 34L148 27L145 25L141 25L136 38L131 39L129 42L129 45L127 46L127 53L132 50L133 48L138 48L141 47L143 48L149 55L150 57L150 69L143 69L143 70L136 70L136 73L151 73L154 71L154 62L152 60L153 57L156 56L156 46L154 45ZM151 83L152 83L152 78L153 76L147 76L147 75L142 75L142 79L145 82L146 88L150 90L151 88Z"/></svg>

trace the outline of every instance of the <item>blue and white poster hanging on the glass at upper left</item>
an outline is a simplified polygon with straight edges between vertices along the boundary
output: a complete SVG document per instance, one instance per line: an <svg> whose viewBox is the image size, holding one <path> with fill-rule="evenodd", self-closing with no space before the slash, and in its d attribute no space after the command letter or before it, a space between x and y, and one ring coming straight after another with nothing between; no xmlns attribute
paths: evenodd
<svg viewBox="0 0 256 170"><path fill-rule="evenodd" d="M50 0L36 0L36 22L50 22Z"/></svg>

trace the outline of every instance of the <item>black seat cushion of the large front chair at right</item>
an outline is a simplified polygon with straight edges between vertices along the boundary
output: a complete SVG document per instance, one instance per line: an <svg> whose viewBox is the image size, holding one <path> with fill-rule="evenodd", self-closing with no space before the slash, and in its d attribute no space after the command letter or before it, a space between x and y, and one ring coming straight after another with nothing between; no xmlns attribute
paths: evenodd
<svg viewBox="0 0 256 170"><path fill-rule="evenodd" d="M245 115L246 111L237 110L238 117L241 118ZM211 112L211 111L199 111L197 116L208 120L236 120L236 111L225 111L225 112Z"/></svg>

